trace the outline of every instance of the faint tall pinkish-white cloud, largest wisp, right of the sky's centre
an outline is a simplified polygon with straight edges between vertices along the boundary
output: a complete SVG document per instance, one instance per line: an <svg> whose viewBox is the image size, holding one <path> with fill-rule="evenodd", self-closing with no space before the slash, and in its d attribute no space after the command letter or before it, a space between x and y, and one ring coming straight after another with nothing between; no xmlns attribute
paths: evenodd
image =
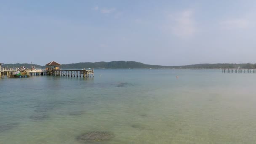
<svg viewBox="0 0 256 144"><path fill-rule="evenodd" d="M168 16L165 30L171 31L178 37L190 37L196 34L197 27L194 19L194 11L186 10Z"/></svg>

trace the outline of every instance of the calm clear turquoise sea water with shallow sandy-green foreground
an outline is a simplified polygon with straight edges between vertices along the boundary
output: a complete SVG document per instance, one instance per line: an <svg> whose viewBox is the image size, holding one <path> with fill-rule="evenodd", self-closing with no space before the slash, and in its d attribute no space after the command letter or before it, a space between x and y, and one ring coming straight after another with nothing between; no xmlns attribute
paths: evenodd
<svg viewBox="0 0 256 144"><path fill-rule="evenodd" d="M189 69L5 77L0 144L254 144L255 80ZM87 133L97 139L79 139Z"/></svg>

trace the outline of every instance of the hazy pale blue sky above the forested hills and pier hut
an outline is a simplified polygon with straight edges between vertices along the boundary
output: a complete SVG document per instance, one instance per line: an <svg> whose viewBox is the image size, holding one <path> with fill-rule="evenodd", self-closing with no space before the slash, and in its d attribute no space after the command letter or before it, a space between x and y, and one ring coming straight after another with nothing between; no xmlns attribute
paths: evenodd
<svg viewBox="0 0 256 144"><path fill-rule="evenodd" d="M255 0L0 0L0 62L256 63Z"/></svg>

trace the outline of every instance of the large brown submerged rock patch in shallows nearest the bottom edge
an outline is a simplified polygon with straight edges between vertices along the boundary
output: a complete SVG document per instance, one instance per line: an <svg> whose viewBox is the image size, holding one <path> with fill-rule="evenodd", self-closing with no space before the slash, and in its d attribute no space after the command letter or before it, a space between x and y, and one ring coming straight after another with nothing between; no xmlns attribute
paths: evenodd
<svg viewBox="0 0 256 144"><path fill-rule="evenodd" d="M108 131L92 131L77 136L78 141L108 141L115 137L114 133Z"/></svg>

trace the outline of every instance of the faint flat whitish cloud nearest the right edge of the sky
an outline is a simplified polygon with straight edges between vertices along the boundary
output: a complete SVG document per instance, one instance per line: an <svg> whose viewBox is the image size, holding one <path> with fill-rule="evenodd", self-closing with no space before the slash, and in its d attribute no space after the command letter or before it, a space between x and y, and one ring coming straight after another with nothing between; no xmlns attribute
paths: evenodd
<svg viewBox="0 0 256 144"><path fill-rule="evenodd" d="M248 19L229 19L220 22L222 29L247 29L251 25Z"/></svg>

